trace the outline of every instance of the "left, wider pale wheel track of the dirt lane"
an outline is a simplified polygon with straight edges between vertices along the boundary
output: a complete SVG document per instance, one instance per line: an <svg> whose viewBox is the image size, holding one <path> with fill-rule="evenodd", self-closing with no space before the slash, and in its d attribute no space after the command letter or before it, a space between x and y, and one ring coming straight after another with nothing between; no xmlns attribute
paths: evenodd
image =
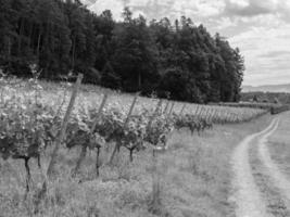
<svg viewBox="0 0 290 217"><path fill-rule="evenodd" d="M231 159L234 169L234 195L231 200L237 206L237 217L270 216L266 212L266 205L261 197L252 175L249 162L249 146L255 141L264 140L264 137L269 135L275 129L276 125L277 119L274 119L263 131L248 136L234 151Z"/></svg>

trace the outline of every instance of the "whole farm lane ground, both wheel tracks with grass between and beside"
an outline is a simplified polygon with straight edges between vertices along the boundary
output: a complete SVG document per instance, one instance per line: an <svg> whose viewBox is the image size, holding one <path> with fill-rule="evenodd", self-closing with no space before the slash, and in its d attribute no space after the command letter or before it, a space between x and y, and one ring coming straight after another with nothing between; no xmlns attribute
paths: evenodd
<svg viewBox="0 0 290 217"><path fill-rule="evenodd" d="M232 155L232 197L237 217L290 216L290 113L247 137Z"/></svg>

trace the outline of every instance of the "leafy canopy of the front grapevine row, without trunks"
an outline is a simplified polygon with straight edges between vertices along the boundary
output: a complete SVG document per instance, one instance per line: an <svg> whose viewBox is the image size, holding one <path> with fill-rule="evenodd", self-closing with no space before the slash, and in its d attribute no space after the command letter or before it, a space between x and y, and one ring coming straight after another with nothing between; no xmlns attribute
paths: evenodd
<svg viewBox="0 0 290 217"><path fill-rule="evenodd" d="M39 88L37 80L31 82L29 86L34 91L28 95L14 93L1 99L0 138L3 158L39 156L45 146L55 140L61 128L61 107L42 102L41 94L36 91ZM9 85L5 89L13 92L13 87ZM223 117L210 110L204 114L202 108L200 113L192 114L167 114L166 111L159 111L154 117L150 108L143 107L136 115L127 117L121 107L105 108L98 118L93 133L90 133L90 128L97 117L97 111L86 112L84 107L78 108L68 122L64 140L66 146L71 149L75 145L86 145L89 149L99 149L110 142L118 143L130 151L144 149L144 143L166 146L168 135L174 129L188 128L192 133L196 130L200 132L211 128L213 123L243 122L264 113L261 110L249 110L249 113Z"/></svg>

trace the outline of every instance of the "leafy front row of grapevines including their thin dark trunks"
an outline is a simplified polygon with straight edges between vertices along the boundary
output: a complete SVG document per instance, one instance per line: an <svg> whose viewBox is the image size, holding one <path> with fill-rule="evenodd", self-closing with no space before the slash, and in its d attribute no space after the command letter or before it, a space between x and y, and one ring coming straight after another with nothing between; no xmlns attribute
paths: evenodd
<svg viewBox="0 0 290 217"><path fill-rule="evenodd" d="M22 82L11 82L5 79L4 88L1 87L0 101L0 154L3 159L24 159L27 184L29 190L30 169L29 159L38 159L48 145L55 143L60 135L63 119L62 107L65 95L60 106L47 103L43 100L43 90L37 80L30 85L34 90L28 94L20 94L17 87ZM37 91L36 91L37 90ZM10 92L10 94L7 94ZM12 93L11 93L12 92ZM65 91L66 92L66 91ZM42 94L41 94L42 93ZM136 97L137 99L137 97ZM119 149L128 150L129 161L134 161L134 153L144 149L167 149L167 141L174 130L187 128L199 135L205 129L213 128L214 124L240 123L251 120L266 111L255 108L224 108L206 107L190 110L182 105L179 113L174 111L173 103L162 110L162 101L156 110L141 107L135 114L127 114L122 106L106 106L97 111L94 107L77 106L70 116L64 139L61 141L66 149L81 146L81 155L76 163L76 169L86 156L86 150L96 150L96 170L99 175L99 155L102 148L112 143L116 144L116 154ZM131 113L133 113L131 107ZM169 111L169 112L168 112Z"/></svg>

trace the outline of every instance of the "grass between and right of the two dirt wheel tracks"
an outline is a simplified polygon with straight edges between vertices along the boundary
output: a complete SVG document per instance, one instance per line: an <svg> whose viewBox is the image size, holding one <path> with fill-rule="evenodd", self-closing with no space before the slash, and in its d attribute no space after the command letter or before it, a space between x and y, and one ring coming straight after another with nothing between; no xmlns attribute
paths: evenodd
<svg viewBox="0 0 290 217"><path fill-rule="evenodd" d="M282 173L290 175L290 148L289 148L289 112L280 114L280 124L278 129L268 138L267 146L272 158L279 165ZM250 163L254 180L264 199L268 213L273 216L289 216L288 202L282 192L273 182L267 168L260 159L257 145L250 149Z"/></svg>

